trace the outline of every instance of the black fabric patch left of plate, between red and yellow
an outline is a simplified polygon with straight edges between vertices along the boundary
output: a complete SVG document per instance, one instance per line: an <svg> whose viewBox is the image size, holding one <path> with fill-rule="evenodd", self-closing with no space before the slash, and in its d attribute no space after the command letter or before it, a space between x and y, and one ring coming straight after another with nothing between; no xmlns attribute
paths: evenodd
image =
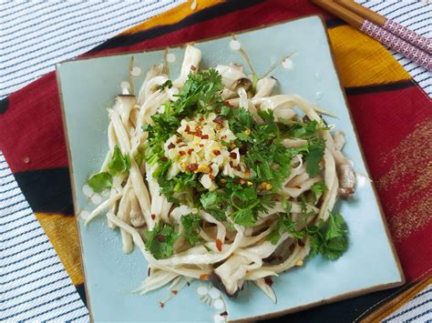
<svg viewBox="0 0 432 323"><path fill-rule="evenodd" d="M14 175L33 211L74 215L67 167L30 170Z"/></svg>

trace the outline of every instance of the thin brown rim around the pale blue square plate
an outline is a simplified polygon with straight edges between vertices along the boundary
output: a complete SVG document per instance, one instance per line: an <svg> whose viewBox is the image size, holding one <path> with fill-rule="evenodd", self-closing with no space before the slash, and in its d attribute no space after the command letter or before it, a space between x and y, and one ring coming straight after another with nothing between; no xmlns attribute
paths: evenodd
<svg viewBox="0 0 432 323"><path fill-rule="evenodd" d="M72 162L72 154L70 151L70 144L69 144L69 134L67 131L67 122L66 122L66 109L65 109L65 104L64 104L64 98L63 98L63 91L62 91L62 86L61 86L61 78L60 78L60 68L62 65L65 64L73 64L76 62L80 62L80 61L87 61L87 60L92 60L92 59L98 59L98 58L106 58L106 57L116 57L116 56L129 56L129 55L134 55L134 54L146 54L146 53L151 53L151 52L157 52L157 51L161 51L161 50L165 50L165 49L173 49L173 48L184 48L186 45L193 45L193 44L201 44L204 42L209 42L211 40L216 40L216 39L220 39L226 36L230 36L230 35L242 35L245 33L249 33L255 30L260 30L260 29L264 29L264 28L271 28L275 25L283 25L286 23L291 23L294 21L298 21L298 20L303 20L303 19L307 19L307 18L318 18L321 26L324 29L324 34L325 34L325 40L330 52L330 56L331 56L331 63L333 64L333 68L334 68L334 72L337 76L337 83L339 86L339 89L342 92L342 95L344 97L344 101L345 101L345 109L347 110L348 116L349 116L349 121L351 123L351 126L353 126L353 130L354 130L354 134L355 134L355 140L357 142L357 146L360 152L360 156L362 158L362 161L365 165L365 173L366 176L371 178L370 175L370 170L369 167L366 163L365 160L365 153L363 151L363 147L361 145L361 141L359 140L359 136L358 136L358 132L355 126L355 122L353 119L353 115L351 113L351 109L349 107L348 104L348 99L345 93L345 87L342 85L341 83L341 77L340 77L340 69L339 67L335 64L335 56L334 56L334 49L331 45L330 42L330 37L329 37L329 33L328 33L328 28L325 25L325 20L324 20L324 16L321 14L318 15L304 15L301 17L296 17L296 18L292 18L292 19L286 19L277 23L273 23L273 24L268 24L268 25L258 25L252 28L247 28L247 29L242 29L240 31L236 31L236 32L231 32L231 33L225 33L222 35L215 35L215 36L211 36L211 37L207 37L207 38L201 38L199 40L196 41L191 41L191 42L186 42L186 43L180 43L178 45L173 45L173 46L159 46L159 47L152 47L149 50L140 50L140 51L130 51L130 52L124 52L124 53L118 53L118 54L107 54L107 55L100 55L100 56L86 56L86 57L77 57L77 58L72 58L72 59L67 59L65 61L59 62L56 64L56 79L57 79L57 89L58 89L58 97L59 97L59 102L60 102L60 110L61 110L61 116L62 116L62 122L63 122L63 132L65 134L65 141L66 141L66 146L67 146L67 160L68 160L68 168L69 168L69 177L70 177L70 183L71 183L71 188L72 188L72 199L73 199L73 206L74 206L74 216L76 219L76 225L77 225L77 234L78 234L78 240L79 240L79 247L80 247L80 256L81 256L81 269L82 269L82 273L83 273L83 278L84 278L84 288L85 288L85 292L86 292L86 298L87 298L87 310L88 310L88 316L90 318L90 322L94 322L95 319L93 318L93 313L91 310L91 298L90 298L90 294L88 293L88 289L87 289L87 278L86 278L86 269L85 269L85 265L84 265L84 255L83 255L83 243L82 243L82 237L81 237L81 227L79 224L79 215L77 214L77 192L75 189L75 180L74 180L74 167L73 167L73 162ZM85 55L85 54L84 54ZM385 235L386 235L386 240L387 240L387 244L390 247L390 251L391 254L395 260L396 263L396 269L397 272L399 273L399 279L396 280L395 282L391 282L391 283L386 283L386 284L378 284L378 285L374 285L368 288L361 288L361 289L356 289L356 290L352 290L346 293L342 293L339 295L336 295L334 297L331 298L324 298L322 300L318 300L312 303L307 303L298 307L294 307L294 308L287 308L287 309L283 309L283 310L279 310L276 312L269 312L269 313L264 313L262 315L256 315L256 316L252 316L252 317L246 317L246 318L238 318L238 319L230 319L228 317L228 322L242 322L244 320L255 320L255 319L268 319L268 318L277 318L283 315L287 315L287 314L293 314L293 313L297 313L309 308L315 308L318 306L322 306L325 304L331 304L337 301L341 301L341 300L345 300L345 299L349 299L349 298L355 298L358 296L362 296L371 292L375 292L375 291L379 291L379 290L385 290L388 288L396 288L399 286L402 286L406 283L406 278L404 275L404 272L402 270L402 266L400 264L400 260L399 257L397 256L396 253L396 247L393 243L393 240L391 238L391 233L390 230L388 228L388 223L386 221L386 217L384 215L384 210L381 204L381 201L378 197L377 191L376 191L376 187L375 187L375 183L372 182L371 183L371 187L372 187L372 192L374 194L375 197L375 202L376 205L378 207L378 213L379 216L381 217L382 223L383 223L383 227L384 227L384 231L385 231Z"/></svg>

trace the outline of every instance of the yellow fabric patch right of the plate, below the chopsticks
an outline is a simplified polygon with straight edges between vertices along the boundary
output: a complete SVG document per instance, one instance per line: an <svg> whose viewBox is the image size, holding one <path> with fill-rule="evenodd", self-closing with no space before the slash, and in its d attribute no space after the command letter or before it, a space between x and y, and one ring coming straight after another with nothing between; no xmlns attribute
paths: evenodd
<svg viewBox="0 0 432 323"><path fill-rule="evenodd" d="M343 86L376 86L411 79L375 39L349 25L329 29L328 33Z"/></svg>

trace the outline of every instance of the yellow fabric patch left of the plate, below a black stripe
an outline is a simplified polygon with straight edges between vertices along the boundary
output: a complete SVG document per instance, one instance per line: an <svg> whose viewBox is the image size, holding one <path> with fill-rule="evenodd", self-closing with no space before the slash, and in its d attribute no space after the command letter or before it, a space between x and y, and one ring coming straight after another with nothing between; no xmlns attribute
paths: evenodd
<svg viewBox="0 0 432 323"><path fill-rule="evenodd" d="M56 249L57 255L65 266L73 284L82 284L84 276L81 267L81 248L79 247L76 218L46 213L36 213L36 218Z"/></svg>

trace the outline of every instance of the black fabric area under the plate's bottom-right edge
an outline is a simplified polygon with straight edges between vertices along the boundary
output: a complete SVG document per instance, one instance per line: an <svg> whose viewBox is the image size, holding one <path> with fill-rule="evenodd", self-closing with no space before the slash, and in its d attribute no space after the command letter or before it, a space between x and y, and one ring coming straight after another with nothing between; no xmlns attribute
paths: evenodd
<svg viewBox="0 0 432 323"><path fill-rule="evenodd" d="M396 298L406 290L404 288L391 288L378 291L365 296L347 299L341 302L328 304L318 308L310 308L305 311L289 314L281 318L267 319L268 323L304 323L304 322L320 322L320 323L351 323L358 322L359 317L365 313L368 308L372 308L379 301L388 298ZM392 295L394 294L395 295Z"/></svg>

